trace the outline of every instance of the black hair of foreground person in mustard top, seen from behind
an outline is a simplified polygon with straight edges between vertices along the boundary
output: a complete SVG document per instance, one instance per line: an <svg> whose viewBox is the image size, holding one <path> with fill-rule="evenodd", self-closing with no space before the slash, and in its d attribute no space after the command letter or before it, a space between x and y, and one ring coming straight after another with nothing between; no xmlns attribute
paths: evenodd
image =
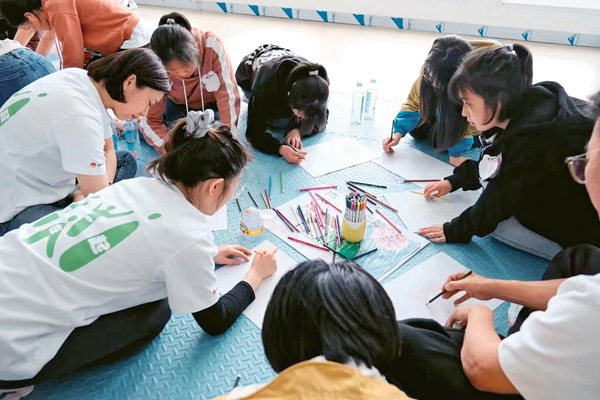
<svg viewBox="0 0 600 400"><path fill-rule="evenodd" d="M401 348L394 306L381 284L353 264L323 260L305 261L281 278L262 339L276 372L323 355L385 374Z"/></svg>

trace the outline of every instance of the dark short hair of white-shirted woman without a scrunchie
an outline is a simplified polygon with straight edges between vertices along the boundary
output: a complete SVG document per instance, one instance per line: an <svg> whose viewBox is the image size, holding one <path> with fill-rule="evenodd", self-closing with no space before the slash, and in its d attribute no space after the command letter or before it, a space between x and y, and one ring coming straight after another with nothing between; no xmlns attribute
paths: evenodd
<svg viewBox="0 0 600 400"><path fill-rule="evenodd" d="M167 93L171 90L169 75L160 59L148 49L130 49L94 61L88 67L88 76L104 84L113 100L125 103L123 83L136 76L138 89L150 88Z"/></svg>

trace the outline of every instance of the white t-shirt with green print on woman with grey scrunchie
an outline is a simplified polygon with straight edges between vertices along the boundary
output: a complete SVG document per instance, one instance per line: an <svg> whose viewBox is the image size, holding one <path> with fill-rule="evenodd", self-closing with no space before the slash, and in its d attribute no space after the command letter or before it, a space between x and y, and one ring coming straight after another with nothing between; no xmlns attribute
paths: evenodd
<svg viewBox="0 0 600 400"><path fill-rule="evenodd" d="M155 178L116 183L0 238L0 380L33 377L76 327L169 298L219 296L208 217Z"/></svg>

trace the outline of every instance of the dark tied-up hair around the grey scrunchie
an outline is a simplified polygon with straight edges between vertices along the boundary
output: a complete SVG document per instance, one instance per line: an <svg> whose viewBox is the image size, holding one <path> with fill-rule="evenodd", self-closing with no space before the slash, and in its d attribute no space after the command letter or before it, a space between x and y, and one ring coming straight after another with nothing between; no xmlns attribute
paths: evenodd
<svg viewBox="0 0 600 400"><path fill-rule="evenodd" d="M183 118L169 135L166 154L151 161L147 170L155 172L164 181L178 182L189 189L209 179L222 178L229 182L252 159L226 125L213 124L204 137L196 138L186 130Z"/></svg>

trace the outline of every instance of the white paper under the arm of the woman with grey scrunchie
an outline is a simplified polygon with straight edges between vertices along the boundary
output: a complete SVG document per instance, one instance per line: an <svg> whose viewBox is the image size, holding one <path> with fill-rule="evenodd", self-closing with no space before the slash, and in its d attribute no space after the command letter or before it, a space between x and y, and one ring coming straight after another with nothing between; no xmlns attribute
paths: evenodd
<svg viewBox="0 0 600 400"><path fill-rule="evenodd" d="M246 273L252 264L252 260L254 260L254 257L256 256L254 250L262 250L269 247L273 247L273 244L264 241L252 249L252 256L250 256L249 262L240 265L226 265L219 268L219 270L215 272L217 279L219 280L219 292L221 294L229 292L244 278L244 276L246 276ZM244 315L250 318L250 321L252 321L259 329L262 329L265 311L267 310L267 305L273 295L275 286L277 286L277 283L286 272L296 267L296 264L296 261L292 260L285 252L281 250L277 252L277 272L263 281L256 291L256 298L244 311Z"/></svg>

